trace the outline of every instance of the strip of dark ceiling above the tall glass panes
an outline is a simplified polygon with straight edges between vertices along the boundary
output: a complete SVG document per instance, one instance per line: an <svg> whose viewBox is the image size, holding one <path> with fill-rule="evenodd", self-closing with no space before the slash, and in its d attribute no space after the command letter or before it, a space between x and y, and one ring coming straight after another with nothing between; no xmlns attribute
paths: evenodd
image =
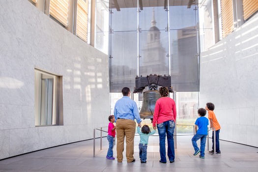
<svg viewBox="0 0 258 172"><path fill-rule="evenodd" d="M169 6L187 6L195 5L198 0L169 0ZM110 0L110 7L120 11L121 8L137 8L138 0ZM139 7L143 10L144 7L164 6L167 8L168 0L139 0Z"/></svg>

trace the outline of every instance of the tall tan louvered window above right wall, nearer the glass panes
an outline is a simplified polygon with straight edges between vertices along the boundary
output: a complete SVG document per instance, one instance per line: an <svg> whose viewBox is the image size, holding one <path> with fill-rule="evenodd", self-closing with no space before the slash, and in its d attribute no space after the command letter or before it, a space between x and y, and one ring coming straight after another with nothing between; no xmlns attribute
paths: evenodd
<svg viewBox="0 0 258 172"><path fill-rule="evenodd" d="M222 37L225 38L234 30L232 0L221 0Z"/></svg>

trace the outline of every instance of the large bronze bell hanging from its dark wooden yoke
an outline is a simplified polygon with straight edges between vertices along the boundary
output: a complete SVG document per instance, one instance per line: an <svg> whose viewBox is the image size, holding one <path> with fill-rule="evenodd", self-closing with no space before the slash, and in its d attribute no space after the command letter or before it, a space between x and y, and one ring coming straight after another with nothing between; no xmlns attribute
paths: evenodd
<svg viewBox="0 0 258 172"><path fill-rule="evenodd" d="M140 111L140 117L150 118L151 122L154 115L154 109L156 101L161 97L158 89L158 86L167 86L169 91L172 92L171 87L171 76L160 76L160 75L147 75L147 77L136 77L135 78L134 93L141 92L143 93L143 105ZM143 92L145 86L148 86L148 90Z"/></svg>

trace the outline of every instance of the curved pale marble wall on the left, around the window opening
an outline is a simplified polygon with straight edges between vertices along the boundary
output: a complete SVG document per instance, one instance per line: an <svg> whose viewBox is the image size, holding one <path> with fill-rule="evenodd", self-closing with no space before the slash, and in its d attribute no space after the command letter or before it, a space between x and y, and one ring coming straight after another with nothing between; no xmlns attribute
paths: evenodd
<svg viewBox="0 0 258 172"><path fill-rule="evenodd" d="M35 127L35 67L63 76L63 126ZM108 71L107 55L28 0L0 0L0 159L92 139L108 124Z"/></svg>

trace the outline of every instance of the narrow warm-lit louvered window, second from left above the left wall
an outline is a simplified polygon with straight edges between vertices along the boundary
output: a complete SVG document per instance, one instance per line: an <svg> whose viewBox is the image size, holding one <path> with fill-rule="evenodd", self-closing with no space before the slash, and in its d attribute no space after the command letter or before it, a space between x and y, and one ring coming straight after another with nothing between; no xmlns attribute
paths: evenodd
<svg viewBox="0 0 258 172"><path fill-rule="evenodd" d="M87 41L87 29L88 29L88 0L78 0L76 34L84 41Z"/></svg>

